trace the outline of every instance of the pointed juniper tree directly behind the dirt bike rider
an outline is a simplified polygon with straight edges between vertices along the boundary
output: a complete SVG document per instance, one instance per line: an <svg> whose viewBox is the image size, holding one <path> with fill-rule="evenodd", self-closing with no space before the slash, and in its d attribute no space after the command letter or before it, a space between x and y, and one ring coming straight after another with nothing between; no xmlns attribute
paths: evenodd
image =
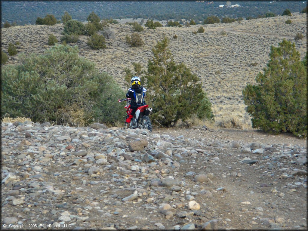
<svg viewBox="0 0 308 231"><path fill-rule="evenodd" d="M199 108L211 110L210 107L200 107L201 101L206 98L198 83L200 79L184 63L174 62L166 37L156 44L152 52L148 70L141 80L148 88L147 101L153 107L152 118L155 123L171 127L179 119L185 120L193 113L197 114ZM135 65L135 72L138 72L138 68L139 74L142 74L140 65ZM128 79L131 73L126 73ZM200 112L200 116L207 114Z"/></svg>

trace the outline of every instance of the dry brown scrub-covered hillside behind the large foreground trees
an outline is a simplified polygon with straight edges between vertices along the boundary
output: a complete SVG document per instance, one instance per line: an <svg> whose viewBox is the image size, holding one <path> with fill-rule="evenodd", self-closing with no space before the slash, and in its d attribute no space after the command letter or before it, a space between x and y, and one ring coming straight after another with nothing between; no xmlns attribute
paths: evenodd
<svg viewBox="0 0 308 231"><path fill-rule="evenodd" d="M176 62L184 62L192 72L201 78L203 88L213 104L216 125L250 128L250 118L245 111L242 90L247 83L255 83L255 77L262 71L269 59L270 46L278 46L282 38L295 42L301 58L306 53L306 36L294 41L297 33L307 34L306 14L292 14L292 20L286 24L286 16L259 18L241 23L216 23L202 25L204 33L193 35L200 25L190 27L158 27L156 30L145 28L141 32L144 46L129 47L125 35L131 34L132 26L111 24L114 38L106 39L107 48L92 50L86 43L89 36L80 36L78 45L80 56L96 63L100 71L112 75L124 87L124 68L133 69L132 63L138 62L146 68L152 57L151 48L157 41L167 36L170 49ZM126 20L129 21L129 20ZM132 21L132 20L131 20ZM1 29L1 46L7 51L10 42L19 41L18 53L43 53L49 34L61 38L63 24L55 26L15 26ZM225 35L221 34L225 31ZM174 34L177 39L172 39ZM18 63L18 57L9 58L7 64ZM250 65L256 63L256 65ZM7 65L6 64L6 65ZM200 121L199 121L200 123Z"/></svg>

